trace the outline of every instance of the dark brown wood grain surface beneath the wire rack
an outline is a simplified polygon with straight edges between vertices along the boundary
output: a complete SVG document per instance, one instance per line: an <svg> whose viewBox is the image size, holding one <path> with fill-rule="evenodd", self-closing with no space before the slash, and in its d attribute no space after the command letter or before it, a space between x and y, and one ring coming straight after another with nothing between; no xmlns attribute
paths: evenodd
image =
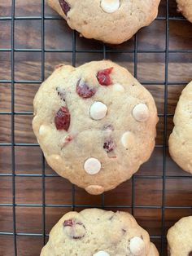
<svg viewBox="0 0 192 256"><path fill-rule="evenodd" d="M176 2L169 1L169 17L181 17L177 13ZM46 5L45 16L58 17ZM0 17L11 16L11 0L0 0ZM15 17L41 16L41 0L15 0ZM166 1L161 1L159 17L166 17ZM41 69L41 20L15 20L15 143L37 143L32 130L33 97L39 87ZM192 214L192 179L169 157L168 148L164 155L164 114L167 113L167 143L172 131L172 115L177 100L185 84L192 80L192 25L186 20L169 20L168 33L168 105L164 108L164 82L166 57L166 20L155 20L149 27L137 33L137 79L146 86L155 98L159 113L156 148L150 161L146 162L135 175L134 182L122 183L111 192L106 192L104 205L107 210L132 212L137 222L146 228L160 252L160 236L179 218ZM45 77L48 77L59 63L72 64L72 30L64 20L45 20ZM11 49L11 20L0 20L0 49ZM28 49L28 51L18 51ZM30 50L36 49L35 52ZM107 59L129 68L134 73L134 39L120 46L106 46ZM51 50L51 51L50 51ZM53 52L62 50L69 52ZM100 52L91 53L91 50ZM120 50L123 52L114 52ZM126 52L129 50L132 52ZM147 52L141 51L156 51ZM187 52L187 50L190 50ZM85 52L80 52L85 51ZM177 51L177 52L172 52ZM184 52L185 51L185 52ZM80 38L76 33L76 66L90 60L103 59L103 44ZM0 51L0 80L11 80L11 51ZM31 83L24 81L32 81ZM149 84L150 83L150 84ZM151 84L152 83L152 84ZM4 113L3 115L1 113ZM7 113L7 114L6 114ZM11 143L11 83L0 83L0 143ZM12 195L11 147L0 146L0 204L11 204ZM164 168L165 173L164 173ZM102 196L91 196L81 188L60 178L49 166L45 170L45 224L48 235L51 227L75 203L74 210L82 210L85 205L102 207ZM3 175L9 174L9 176ZM36 145L15 146L15 228L17 232L17 255L37 256L43 246L42 198L42 155ZM22 174L36 174L24 177ZM55 174L51 176L49 174ZM163 175L166 179L163 183ZM153 179L149 179L150 176ZM179 176L179 177L175 177ZM165 186L163 194L163 185ZM134 201L132 192L134 190ZM162 211L164 196L164 211ZM23 206L27 204L28 206ZM30 206L29 206L30 205ZM33 205L33 206L32 206ZM34 206L36 205L36 206ZM57 205L57 207L55 207ZM65 207L63 206L65 205ZM151 207L149 207L151 206ZM157 207L156 207L157 206ZM182 208L181 208L182 207ZM164 228L162 228L164 219ZM0 236L0 255L13 256L13 208L0 205L0 232L10 232ZM24 236L24 233L33 234ZM1 234L1 233L0 233ZM164 251L167 255L164 239Z"/></svg>

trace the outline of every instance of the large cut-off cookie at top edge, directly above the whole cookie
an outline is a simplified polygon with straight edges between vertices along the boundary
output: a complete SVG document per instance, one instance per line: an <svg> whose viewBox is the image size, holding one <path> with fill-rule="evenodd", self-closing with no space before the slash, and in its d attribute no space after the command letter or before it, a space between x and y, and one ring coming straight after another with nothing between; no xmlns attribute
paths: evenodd
<svg viewBox="0 0 192 256"><path fill-rule="evenodd" d="M85 38L120 44L155 20L160 0L48 0Z"/></svg>

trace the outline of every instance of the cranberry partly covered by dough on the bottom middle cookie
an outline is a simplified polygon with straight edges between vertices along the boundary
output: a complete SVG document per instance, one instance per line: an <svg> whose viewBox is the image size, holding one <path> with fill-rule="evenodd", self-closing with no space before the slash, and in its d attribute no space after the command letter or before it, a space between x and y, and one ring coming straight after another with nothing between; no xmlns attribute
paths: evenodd
<svg viewBox="0 0 192 256"><path fill-rule="evenodd" d="M76 218L63 222L64 232L73 239L81 239L85 236L85 225Z"/></svg>

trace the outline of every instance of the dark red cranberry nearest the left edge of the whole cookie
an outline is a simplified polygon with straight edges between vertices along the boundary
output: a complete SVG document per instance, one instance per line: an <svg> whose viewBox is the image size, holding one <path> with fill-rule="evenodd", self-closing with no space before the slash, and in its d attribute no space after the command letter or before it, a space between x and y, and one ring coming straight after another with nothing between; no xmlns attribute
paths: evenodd
<svg viewBox="0 0 192 256"><path fill-rule="evenodd" d="M70 121L71 117L68 108L61 107L55 116L55 126L57 130L68 130Z"/></svg>

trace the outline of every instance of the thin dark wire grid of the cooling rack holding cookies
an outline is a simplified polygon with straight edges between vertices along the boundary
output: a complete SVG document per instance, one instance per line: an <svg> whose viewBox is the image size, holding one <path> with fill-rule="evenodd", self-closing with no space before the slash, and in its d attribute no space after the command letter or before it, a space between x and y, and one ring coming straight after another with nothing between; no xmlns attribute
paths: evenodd
<svg viewBox="0 0 192 256"><path fill-rule="evenodd" d="M168 208L175 208L175 209L190 209L192 210L192 207L188 206L177 206L177 207L171 207L165 205L165 183L166 179L172 178L173 176L169 177L166 175L166 141L167 141L167 117L172 117L172 115L168 114L168 85L173 84L172 82L168 82L168 54L170 52L192 52L192 50L183 51L183 50L175 50L175 51L169 51L168 45L169 45L169 20L184 20L181 17L169 17L168 14L168 8L169 8L169 1L166 2L166 17L158 17L156 20L166 20L166 48L165 51L159 51L159 50L151 50L151 51L139 51L137 50L137 34L134 36L134 49L133 50L110 50L108 51L105 44L103 44L103 50L89 50L89 51L77 51L76 50L76 32L73 31L73 37L72 37L72 51L63 51L63 50L46 50L45 49L45 20L59 20L61 18L57 18L54 16L45 16L45 2L44 0L41 0L41 16L32 17L32 16L26 16L26 17L15 17L15 0L12 0L11 2L11 16L10 17L0 17L0 22L2 20L11 20L11 49L0 49L0 51L10 51L11 52L11 80L0 80L1 83L11 83L11 112L0 112L0 115L11 115L11 143L0 143L0 146L10 146L11 147L11 168L12 173L11 174L0 174L0 176L11 176L12 177L12 203L11 204L0 204L0 207L2 206L10 206L12 207L13 211L13 232L0 232L0 235L7 235L7 236L13 236L14 237L14 255L18 255L17 250L17 236L42 236L43 237L43 245L46 244L46 207L71 207L72 210L75 209L75 207L100 207L105 208L105 196L102 195L102 205L76 205L75 202L75 186L72 185L72 205L48 205L46 204L46 189L45 189L45 178L46 176L56 176L56 174L46 174L45 173L45 159L43 157L43 154L41 154L41 174L15 174L15 146L20 147L32 147L37 146L37 143L15 143L15 115L33 115L33 113L23 112L23 113L16 113L15 112L15 84L40 84L42 81L44 81L44 74L45 74L45 53L46 52L71 52L72 53L72 65L76 66L76 52L102 52L103 53L103 59L106 59L107 52L130 52L134 55L134 77L137 78L137 53L164 53L165 54L165 77L164 77L164 114L159 115L159 117L164 117L164 144L163 147L163 175L156 177L153 175L147 175L147 176L135 176L133 175L132 178L132 204L131 205L117 205L116 208L130 208L132 214L134 215L135 209L137 208L149 208L149 209L161 209L162 211L162 222L161 222L161 236L151 236L152 239L160 239L161 240L161 246L160 246L160 255L164 255L164 247L166 246L165 243L165 214L164 210ZM15 49L15 20L41 20L41 49ZM41 81L15 81L15 52L41 52ZM146 85L158 85L162 84L162 82L143 82L142 84ZM174 85L185 85L184 82L174 82ZM156 146L161 147L161 145ZM15 177L16 176L22 176L22 177L41 177L41 204L16 204L15 201ZM159 178L163 180L163 189L162 189L162 205L154 206L154 205L147 205L147 206L137 206L135 205L135 179L153 179L153 178ZM188 176L185 176L188 177ZM174 176L174 178L179 179L181 176ZM191 178L189 175L188 178ZM21 233L16 232L16 212L15 212L15 206L30 206L30 207L41 207L41 214L42 214L42 232L39 234L36 233ZM107 207L110 207L108 205ZM112 206L114 207L114 205Z"/></svg>

